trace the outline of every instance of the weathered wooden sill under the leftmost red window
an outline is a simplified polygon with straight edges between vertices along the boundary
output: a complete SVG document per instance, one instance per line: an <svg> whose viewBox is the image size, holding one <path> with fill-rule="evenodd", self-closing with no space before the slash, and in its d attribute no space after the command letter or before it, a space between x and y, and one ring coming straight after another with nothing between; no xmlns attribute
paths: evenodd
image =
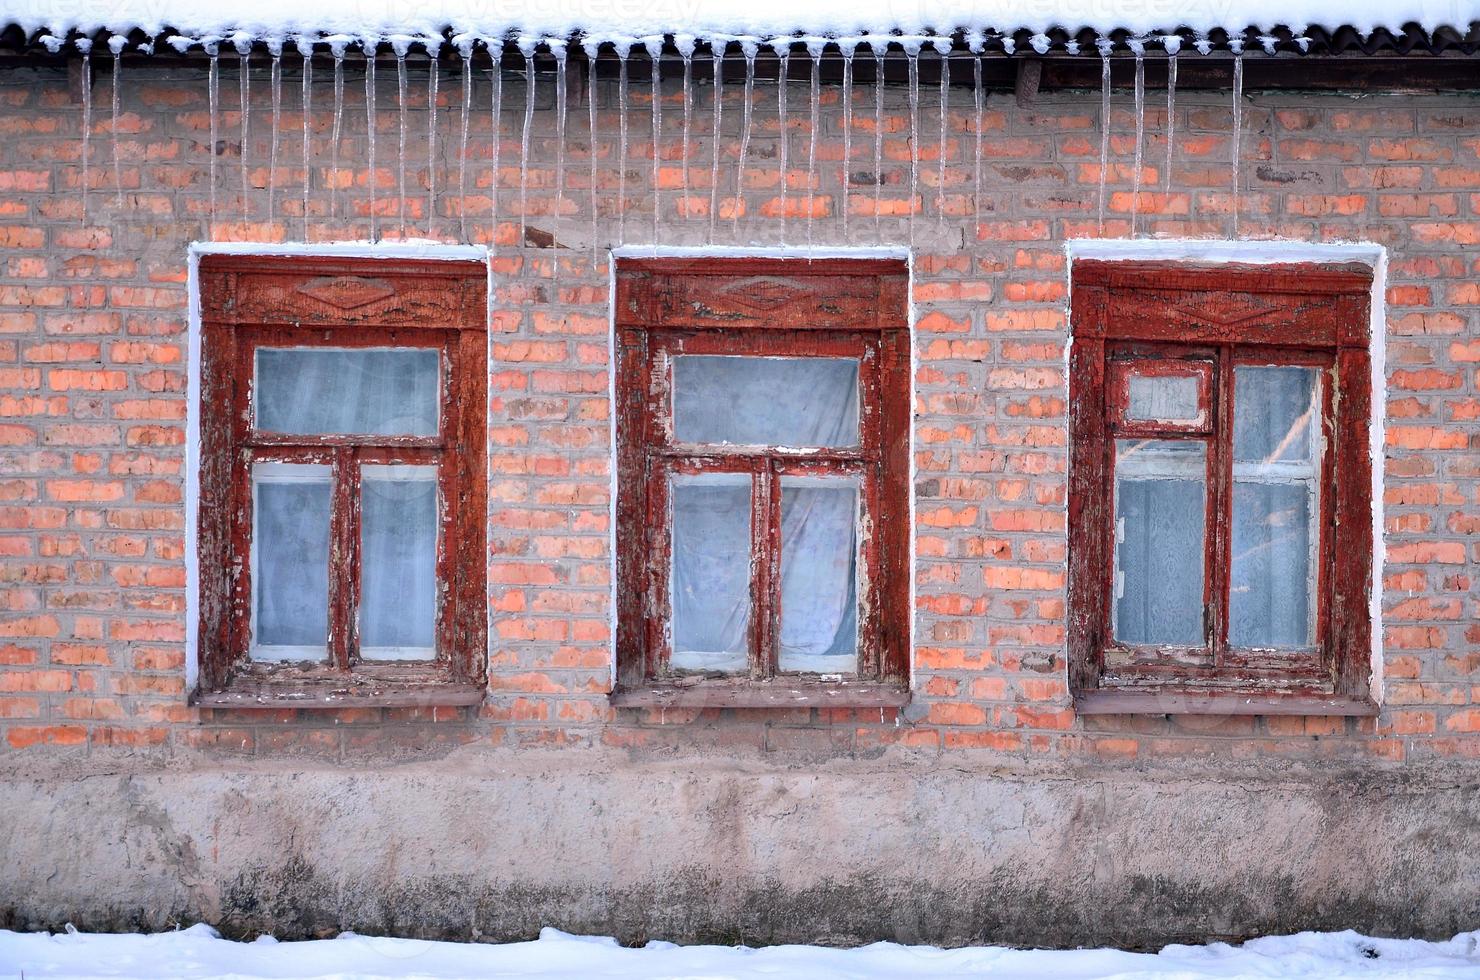
<svg viewBox="0 0 1480 980"><path fill-rule="evenodd" d="M444 666L358 666L348 674L297 665L255 665L213 691L197 691L197 708L238 711L339 708L462 708L481 705L484 685Z"/></svg>

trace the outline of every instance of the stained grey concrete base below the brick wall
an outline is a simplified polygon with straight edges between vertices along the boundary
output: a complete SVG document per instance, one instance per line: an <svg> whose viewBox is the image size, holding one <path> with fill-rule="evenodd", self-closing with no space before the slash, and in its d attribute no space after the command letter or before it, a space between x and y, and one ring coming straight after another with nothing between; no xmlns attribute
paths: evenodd
<svg viewBox="0 0 1480 980"><path fill-rule="evenodd" d="M24 764L22 764L24 762ZM0 925L1157 946L1480 927L1480 770L909 754L49 756L0 770Z"/></svg>

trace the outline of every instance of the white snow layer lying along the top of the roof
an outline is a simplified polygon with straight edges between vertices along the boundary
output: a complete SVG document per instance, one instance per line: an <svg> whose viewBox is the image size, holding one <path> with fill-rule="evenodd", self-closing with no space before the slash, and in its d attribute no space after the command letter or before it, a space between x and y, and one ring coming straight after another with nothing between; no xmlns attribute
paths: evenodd
<svg viewBox="0 0 1480 980"><path fill-rule="evenodd" d="M186 38L275 40L342 36L374 40L644 36L703 40L847 37L903 33L966 37L1083 30L1159 36L1222 30L1242 36L1350 27L1366 36L1418 27L1464 33L1480 0L0 0L27 36L164 31Z"/></svg>

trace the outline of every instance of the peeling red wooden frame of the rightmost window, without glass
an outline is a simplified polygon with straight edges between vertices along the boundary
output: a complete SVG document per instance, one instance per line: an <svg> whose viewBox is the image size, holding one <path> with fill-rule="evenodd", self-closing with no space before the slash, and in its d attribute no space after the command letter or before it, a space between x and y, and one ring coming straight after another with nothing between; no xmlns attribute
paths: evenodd
<svg viewBox="0 0 1480 980"><path fill-rule="evenodd" d="M1342 265L1074 262L1070 343L1069 678L1080 714L1373 715L1372 272ZM1199 364L1209 417L1125 417L1119 358ZM1190 361L1188 358L1202 358ZM1230 650L1233 395L1237 363L1323 370L1316 653ZM1202 367L1206 364L1208 367ZM1114 440L1208 444L1206 645L1141 656L1110 641ZM1146 650L1146 648L1141 648ZM1197 656L1194 651L1203 651ZM1107 656L1113 654L1113 656ZM1206 659L1203 659L1206 657Z"/></svg>

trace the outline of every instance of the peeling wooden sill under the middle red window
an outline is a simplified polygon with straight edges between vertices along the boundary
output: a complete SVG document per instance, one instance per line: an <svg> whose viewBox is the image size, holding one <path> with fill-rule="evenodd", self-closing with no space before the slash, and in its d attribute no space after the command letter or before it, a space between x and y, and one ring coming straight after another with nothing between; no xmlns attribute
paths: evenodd
<svg viewBox="0 0 1480 980"><path fill-rule="evenodd" d="M910 691L878 681L774 681L653 682L611 693L613 708L903 708Z"/></svg>

